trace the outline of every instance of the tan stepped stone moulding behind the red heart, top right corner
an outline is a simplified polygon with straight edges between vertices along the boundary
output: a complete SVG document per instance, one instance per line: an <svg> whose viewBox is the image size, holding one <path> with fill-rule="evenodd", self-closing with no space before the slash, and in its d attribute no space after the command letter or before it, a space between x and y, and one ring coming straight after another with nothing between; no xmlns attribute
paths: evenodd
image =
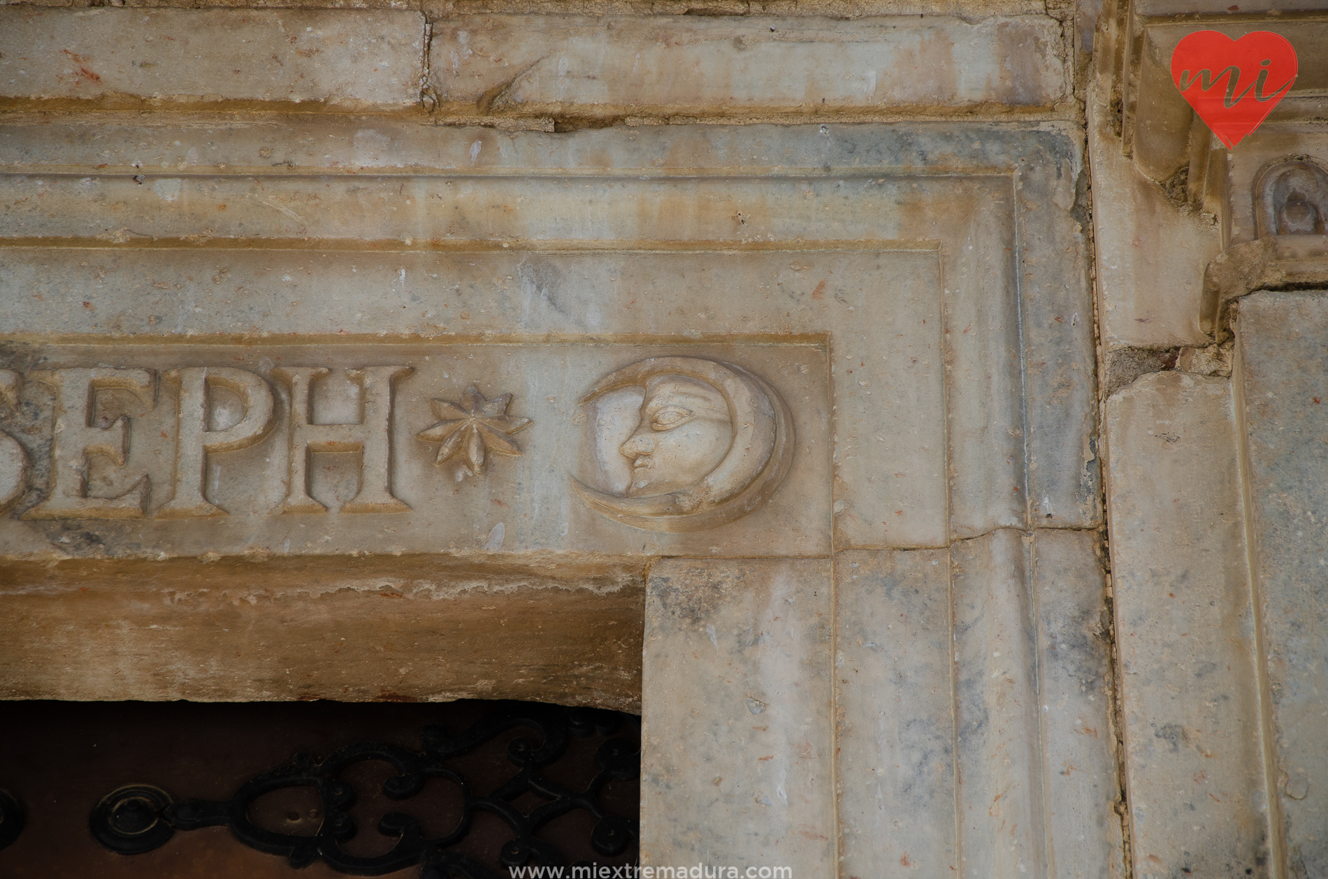
<svg viewBox="0 0 1328 879"><path fill-rule="evenodd" d="M1328 3L1278 5L1283 9L1256 5L1231 12L1235 7L1224 0L1117 0L1114 8L1104 9L1108 40L1100 72L1109 74L1113 110L1120 114L1121 151L1178 206L1219 216L1230 207L1223 186L1227 151L1171 82L1171 50L1187 33L1211 29L1240 37L1275 31L1286 36L1296 46L1300 70L1267 122L1295 123L1321 116L1321 96L1328 89Z"/></svg>

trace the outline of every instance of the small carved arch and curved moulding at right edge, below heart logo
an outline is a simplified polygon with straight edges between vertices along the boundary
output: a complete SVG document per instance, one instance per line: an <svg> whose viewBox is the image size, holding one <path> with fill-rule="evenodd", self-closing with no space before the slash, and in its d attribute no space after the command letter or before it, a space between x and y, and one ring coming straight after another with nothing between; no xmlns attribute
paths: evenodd
<svg viewBox="0 0 1328 879"><path fill-rule="evenodd" d="M1239 166L1238 166L1239 169ZM1231 303L1255 289L1328 284L1328 171L1311 157L1280 157L1252 175L1254 240L1231 244L1203 279L1202 327L1223 340ZM1234 208L1239 208L1234 203ZM1239 210L1234 210L1239 215Z"/></svg>

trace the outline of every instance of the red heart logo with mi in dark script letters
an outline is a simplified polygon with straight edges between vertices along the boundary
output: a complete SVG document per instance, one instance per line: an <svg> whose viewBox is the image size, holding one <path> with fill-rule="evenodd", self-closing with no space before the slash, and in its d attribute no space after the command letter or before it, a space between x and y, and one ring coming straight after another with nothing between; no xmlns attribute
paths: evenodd
<svg viewBox="0 0 1328 879"><path fill-rule="evenodd" d="M1271 31L1239 40L1195 31L1171 53L1175 88L1228 150L1272 113L1296 81L1296 50Z"/></svg>

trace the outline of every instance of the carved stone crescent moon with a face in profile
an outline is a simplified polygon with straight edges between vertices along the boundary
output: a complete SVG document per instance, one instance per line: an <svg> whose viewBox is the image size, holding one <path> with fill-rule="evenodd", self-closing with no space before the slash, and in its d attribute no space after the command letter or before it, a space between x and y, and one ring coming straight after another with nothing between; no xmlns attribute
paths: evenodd
<svg viewBox="0 0 1328 879"><path fill-rule="evenodd" d="M598 513L636 528L700 531L760 507L788 475L793 416L764 378L741 366L652 357L606 376L582 404L622 388L644 390L637 424L618 446L632 465L625 489L600 491L572 479Z"/></svg>

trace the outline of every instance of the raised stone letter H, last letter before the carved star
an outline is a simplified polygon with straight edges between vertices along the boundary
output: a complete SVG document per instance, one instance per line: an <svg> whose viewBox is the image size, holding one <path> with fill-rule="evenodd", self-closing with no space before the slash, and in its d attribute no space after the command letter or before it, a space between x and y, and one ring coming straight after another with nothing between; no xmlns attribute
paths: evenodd
<svg viewBox="0 0 1328 879"><path fill-rule="evenodd" d="M410 366L347 369L360 382L359 424L313 424L313 381L327 374L321 366L282 366L272 376L291 394L291 470L286 499L275 513L327 513L309 497L309 454L359 451L360 489L341 505L341 513L405 513L410 507L392 495L392 384L409 376Z"/></svg>

